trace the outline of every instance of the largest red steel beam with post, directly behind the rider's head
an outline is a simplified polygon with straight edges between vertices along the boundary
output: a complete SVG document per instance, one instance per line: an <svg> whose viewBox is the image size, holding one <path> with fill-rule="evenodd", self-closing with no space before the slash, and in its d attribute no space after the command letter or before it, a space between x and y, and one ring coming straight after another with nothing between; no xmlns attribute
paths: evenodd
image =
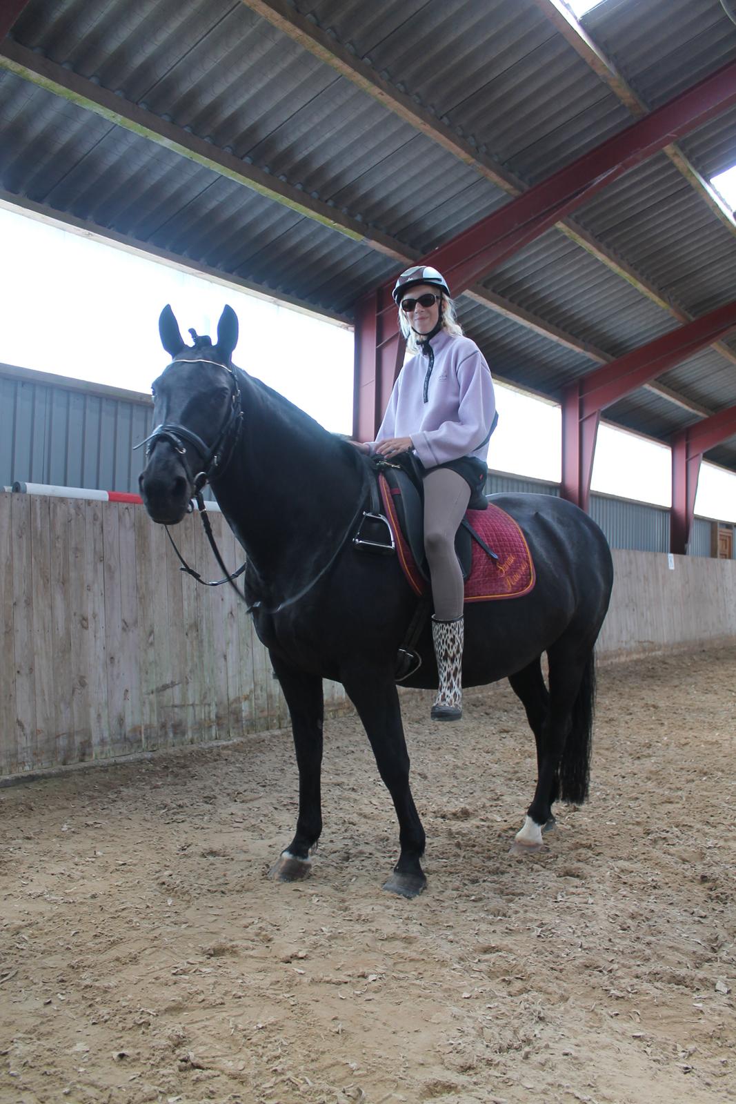
<svg viewBox="0 0 736 1104"><path fill-rule="evenodd" d="M736 103L736 62L730 62L588 153L584 153L572 164L553 173L547 180L535 184L523 195L516 197L486 219L481 219L450 242L417 261L417 264L439 268L448 280L452 295L460 295L596 192L612 183L628 169L657 153L675 138L690 134L734 103ZM392 286L393 282L378 289L375 326L381 330L380 344L388 342L398 333L395 310L391 301ZM386 360L384 353L378 354L376 351L372 355L369 354L370 363L363 363L362 358L364 352L367 354L369 342L363 339L361 327L367 320L370 301L373 301L372 297L366 297L364 302L359 305L356 312L355 392L361 401L369 400L365 381L383 375ZM382 316L380 319L378 315ZM370 321L367 325L370 328L374 323ZM395 358L395 364L401 368L398 357ZM382 402L385 406L387 400L388 394L384 391L383 399L375 395L369 401L369 406L373 407L375 427L381 421ZM356 425L364 426L369 421L369 414L364 414L361 410L356 412Z"/></svg>

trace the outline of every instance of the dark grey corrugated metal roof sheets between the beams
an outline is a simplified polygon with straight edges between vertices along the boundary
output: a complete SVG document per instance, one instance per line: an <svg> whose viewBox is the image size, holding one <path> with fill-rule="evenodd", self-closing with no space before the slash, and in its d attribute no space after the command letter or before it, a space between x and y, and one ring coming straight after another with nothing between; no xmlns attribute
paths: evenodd
<svg viewBox="0 0 736 1104"><path fill-rule="evenodd" d="M331 40L524 184L631 121L628 109L533 0L292 0ZM655 107L736 59L718 0L606 0L588 33ZM314 56L241 0L30 0L17 43L139 104L417 256L509 202L476 168ZM0 185L275 293L344 312L401 262L0 72ZM736 108L682 142L708 174L736 161ZM734 298L736 238L658 155L575 219L691 315ZM630 279L558 231L486 286L608 355L679 325ZM499 374L547 394L595 367L551 338L463 299L460 315ZM736 349L736 341L730 339ZM708 408L736 404L736 369L705 351L662 382ZM640 390L607 411L666 436L695 415ZM736 467L736 446L719 454Z"/></svg>

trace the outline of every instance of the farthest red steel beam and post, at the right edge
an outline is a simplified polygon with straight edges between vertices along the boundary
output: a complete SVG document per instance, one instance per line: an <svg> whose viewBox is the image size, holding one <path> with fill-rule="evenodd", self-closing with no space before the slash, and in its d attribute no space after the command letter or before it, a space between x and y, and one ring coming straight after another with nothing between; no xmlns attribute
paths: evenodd
<svg viewBox="0 0 736 1104"><path fill-rule="evenodd" d="M687 426L672 438L672 509L670 551L685 555L695 517L695 496L703 453L736 436L736 406Z"/></svg>

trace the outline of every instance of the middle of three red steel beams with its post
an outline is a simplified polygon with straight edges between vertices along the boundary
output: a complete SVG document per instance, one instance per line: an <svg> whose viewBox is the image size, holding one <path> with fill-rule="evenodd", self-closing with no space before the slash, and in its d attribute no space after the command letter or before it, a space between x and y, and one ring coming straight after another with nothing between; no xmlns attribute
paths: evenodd
<svg viewBox="0 0 736 1104"><path fill-rule="evenodd" d="M736 301L680 326L570 383L563 394L563 497L584 510L588 508L596 437L600 412L606 406L733 329L736 329Z"/></svg>

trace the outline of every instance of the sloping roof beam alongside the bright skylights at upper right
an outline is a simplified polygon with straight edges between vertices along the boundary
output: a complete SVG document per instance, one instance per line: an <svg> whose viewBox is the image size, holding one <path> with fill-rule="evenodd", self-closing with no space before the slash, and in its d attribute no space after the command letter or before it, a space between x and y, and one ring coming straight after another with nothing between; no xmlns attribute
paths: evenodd
<svg viewBox="0 0 736 1104"><path fill-rule="evenodd" d="M589 67L607 84L614 95L634 116L641 118L648 114L649 107L637 95L627 83L625 77L618 72L614 63L596 45L583 24L575 18L564 0L534 0L534 3L550 22L559 31L573 50L589 65ZM689 181L700 198L711 208L721 222L728 227L732 234L736 234L736 221L733 211L723 201L692 161L685 157L681 149L674 144L665 146L662 150L675 166L679 172Z"/></svg>

